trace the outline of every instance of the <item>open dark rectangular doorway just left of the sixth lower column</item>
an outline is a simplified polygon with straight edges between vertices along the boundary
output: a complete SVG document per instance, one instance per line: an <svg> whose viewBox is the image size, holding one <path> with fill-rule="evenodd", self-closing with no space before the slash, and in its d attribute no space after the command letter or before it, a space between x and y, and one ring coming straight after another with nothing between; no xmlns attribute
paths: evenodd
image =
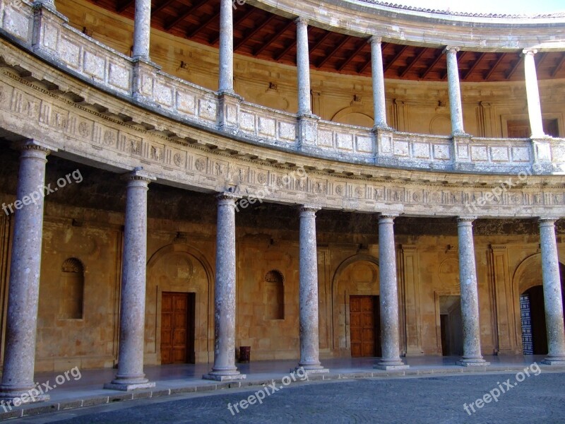
<svg viewBox="0 0 565 424"><path fill-rule="evenodd" d="M441 329L441 354L463 355L463 319L460 296L439 297L439 324Z"/></svg>

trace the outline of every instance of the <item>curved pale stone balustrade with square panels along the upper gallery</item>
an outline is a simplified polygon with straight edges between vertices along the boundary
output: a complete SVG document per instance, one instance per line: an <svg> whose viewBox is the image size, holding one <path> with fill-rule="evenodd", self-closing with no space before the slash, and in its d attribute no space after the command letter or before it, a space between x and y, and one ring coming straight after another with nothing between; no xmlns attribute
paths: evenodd
<svg viewBox="0 0 565 424"><path fill-rule="evenodd" d="M485 139L374 131L227 98L160 71L72 28L64 16L25 1L2 4L1 33L49 64L152 112L218 134L345 163L474 173L565 171L564 139ZM34 28L34 16L36 19ZM155 128L159 130L159 128Z"/></svg>

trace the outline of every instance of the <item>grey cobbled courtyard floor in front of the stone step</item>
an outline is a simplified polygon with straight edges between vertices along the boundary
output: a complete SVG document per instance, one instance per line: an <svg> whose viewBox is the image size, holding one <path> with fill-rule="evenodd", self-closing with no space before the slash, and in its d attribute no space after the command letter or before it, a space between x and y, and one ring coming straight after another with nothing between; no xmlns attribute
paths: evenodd
<svg viewBox="0 0 565 424"><path fill-rule="evenodd" d="M517 379L521 379L518 382ZM565 373L291 382L235 411L259 389L127 401L9 423L565 423ZM511 387L511 389L509 389ZM499 397L484 399L498 389ZM504 393L503 393L504 389ZM268 392L273 388L268 387ZM261 396L261 395L259 395ZM490 400L480 404L477 399ZM470 404L473 404L475 413ZM233 414L227 408L232 405ZM468 405L468 412L464 409Z"/></svg>

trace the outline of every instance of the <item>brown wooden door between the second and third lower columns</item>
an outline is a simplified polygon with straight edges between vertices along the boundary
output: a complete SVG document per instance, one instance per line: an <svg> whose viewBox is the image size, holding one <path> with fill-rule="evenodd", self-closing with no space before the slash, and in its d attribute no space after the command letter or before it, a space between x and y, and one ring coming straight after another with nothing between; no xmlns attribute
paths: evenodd
<svg viewBox="0 0 565 424"><path fill-rule="evenodd" d="M195 293L162 293L162 364L194 363L195 300Z"/></svg>

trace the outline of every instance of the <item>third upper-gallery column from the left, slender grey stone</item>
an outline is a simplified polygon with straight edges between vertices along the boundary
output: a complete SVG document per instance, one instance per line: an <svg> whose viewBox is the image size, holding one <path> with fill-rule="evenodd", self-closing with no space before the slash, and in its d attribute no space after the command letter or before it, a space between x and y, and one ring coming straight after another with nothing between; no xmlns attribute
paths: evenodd
<svg viewBox="0 0 565 424"><path fill-rule="evenodd" d="M296 65L298 73L298 115L311 115L310 101L310 57L308 47L308 20L297 18L296 22Z"/></svg>

